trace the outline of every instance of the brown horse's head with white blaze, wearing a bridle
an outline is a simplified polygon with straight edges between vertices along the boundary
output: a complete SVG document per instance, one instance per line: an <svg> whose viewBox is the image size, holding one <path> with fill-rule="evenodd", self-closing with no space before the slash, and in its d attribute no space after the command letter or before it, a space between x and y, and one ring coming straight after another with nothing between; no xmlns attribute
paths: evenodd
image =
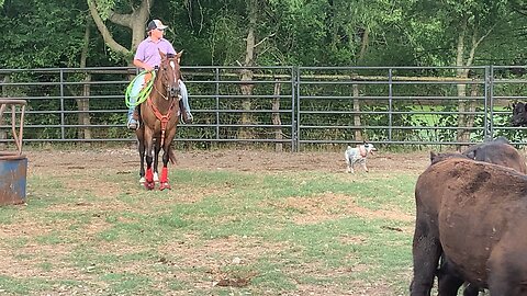
<svg viewBox="0 0 527 296"><path fill-rule="evenodd" d="M166 55L159 50L161 56L161 64L159 65L158 79L161 81L164 89L167 92L165 99L176 98L179 95L179 79L181 78L181 71L179 66L179 59L182 52L177 55Z"/></svg>

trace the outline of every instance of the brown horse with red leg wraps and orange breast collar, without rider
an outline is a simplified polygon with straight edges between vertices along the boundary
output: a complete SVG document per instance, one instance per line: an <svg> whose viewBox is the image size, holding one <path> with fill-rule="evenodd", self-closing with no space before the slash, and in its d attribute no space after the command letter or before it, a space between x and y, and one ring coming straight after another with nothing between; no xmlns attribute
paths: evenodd
<svg viewBox="0 0 527 296"><path fill-rule="evenodd" d="M162 170L159 189L170 189L168 183L168 161L175 162L172 140L179 122L179 59L182 53L166 55L159 52L161 64L157 70L153 90L141 104L141 127L136 130L141 157L139 177L145 179L145 187L153 190L154 172L157 173L159 151L162 148ZM154 153L154 155L153 155ZM145 172L146 160L146 172Z"/></svg>

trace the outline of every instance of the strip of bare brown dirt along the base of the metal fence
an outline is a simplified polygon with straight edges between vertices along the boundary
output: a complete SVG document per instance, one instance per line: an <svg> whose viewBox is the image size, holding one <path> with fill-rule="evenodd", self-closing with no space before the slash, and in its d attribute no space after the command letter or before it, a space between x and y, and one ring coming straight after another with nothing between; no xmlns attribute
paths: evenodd
<svg viewBox="0 0 527 296"><path fill-rule="evenodd" d="M27 151L30 170L57 175L70 175L82 170L101 173L131 173L137 175L139 159L135 149L96 149L60 151L49 157L48 151ZM178 169L233 171L325 171L345 172L343 152L272 152L261 150L177 151ZM429 163L428 152L393 153L379 151L368 158L371 172L424 170ZM363 173L360 168L357 173Z"/></svg>

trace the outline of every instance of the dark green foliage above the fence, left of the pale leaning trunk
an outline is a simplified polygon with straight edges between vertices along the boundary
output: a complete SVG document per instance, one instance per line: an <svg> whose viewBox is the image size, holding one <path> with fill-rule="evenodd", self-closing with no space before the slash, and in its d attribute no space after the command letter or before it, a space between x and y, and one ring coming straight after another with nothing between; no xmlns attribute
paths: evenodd
<svg viewBox="0 0 527 296"><path fill-rule="evenodd" d="M0 14L0 65L47 68L79 65L86 27L85 0L10 1Z"/></svg>

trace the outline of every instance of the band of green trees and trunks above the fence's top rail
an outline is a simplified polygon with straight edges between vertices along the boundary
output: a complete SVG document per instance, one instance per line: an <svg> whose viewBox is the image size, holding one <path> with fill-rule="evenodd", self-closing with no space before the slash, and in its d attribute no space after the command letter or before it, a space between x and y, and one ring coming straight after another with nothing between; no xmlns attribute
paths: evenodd
<svg viewBox="0 0 527 296"><path fill-rule="evenodd" d="M0 0L0 68L127 66L149 20L183 65L525 64L522 0ZM82 55L85 53L85 56Z"/></svg>

